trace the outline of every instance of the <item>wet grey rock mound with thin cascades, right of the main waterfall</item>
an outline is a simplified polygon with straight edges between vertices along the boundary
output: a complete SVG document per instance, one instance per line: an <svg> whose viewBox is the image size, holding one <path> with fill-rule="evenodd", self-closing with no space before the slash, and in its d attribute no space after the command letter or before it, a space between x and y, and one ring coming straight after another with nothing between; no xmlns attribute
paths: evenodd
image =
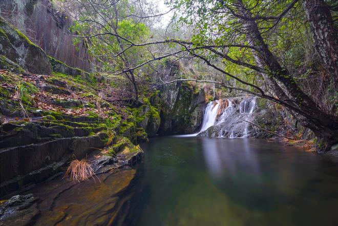
<svg viewBox="0 0 338 226"><path fill-rule="evenodd" d="M283 127L283 112L276 110L265 99L243 96L228 98L226 101L229 104L215 117L214 125L200 132L198 136L270 138L273 134L261 128L276 132Z"/></svg>

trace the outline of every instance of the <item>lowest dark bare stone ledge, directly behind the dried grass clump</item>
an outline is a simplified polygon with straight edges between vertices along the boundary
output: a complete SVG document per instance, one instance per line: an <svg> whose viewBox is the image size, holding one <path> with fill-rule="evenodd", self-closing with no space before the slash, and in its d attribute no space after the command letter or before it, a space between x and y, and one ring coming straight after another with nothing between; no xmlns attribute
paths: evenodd
<svg viewBox="0 0 338 226"><path fill-rule="evenodd" d="M59 138L44 143L0 150L1 196L33 181L40 182L57 173L59 163L64 165L97 148L105 146L107 133L100 132L87 137Z"/></svg>

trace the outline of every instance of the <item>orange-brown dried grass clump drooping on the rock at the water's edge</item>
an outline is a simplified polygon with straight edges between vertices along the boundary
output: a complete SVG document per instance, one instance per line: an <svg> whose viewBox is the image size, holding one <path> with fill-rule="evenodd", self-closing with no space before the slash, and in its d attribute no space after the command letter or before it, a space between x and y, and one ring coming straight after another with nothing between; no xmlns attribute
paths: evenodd
<svg viewBox="0 0 338 226"><path fill-rule="evenodd" d="M94 177L95 173L86 159L75 159L71 161L63 178L67 177L68 175L70 175L71 180L77 180L78 182L80 182Z"/></svg>

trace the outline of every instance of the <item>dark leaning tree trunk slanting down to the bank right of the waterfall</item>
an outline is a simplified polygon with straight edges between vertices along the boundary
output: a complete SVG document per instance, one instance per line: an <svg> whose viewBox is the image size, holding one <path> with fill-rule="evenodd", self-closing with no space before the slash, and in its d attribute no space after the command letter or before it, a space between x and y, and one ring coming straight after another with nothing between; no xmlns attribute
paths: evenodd
<svg viewBox="0 0 338 226"><path fill-rule="evenodd" d="M236 7L240 15L245 18L252 18L251 12L243 5L242 0L237 0ZM286 87L294 105L297 106L295 110L302 115L303 126L311 129L318 137L320 141L318 150L328 151L332 142L337 142L334 135L337 135L338 131L338 118L319 109L315 102L300 89L288 70L279 64L276 56L269 50L255 20L243 18L241 20L249 43L259 50L258 60L267 66L274 79L280 81ZM280 99L285 97L283 93L277 92L276 94Z"/></svg>

